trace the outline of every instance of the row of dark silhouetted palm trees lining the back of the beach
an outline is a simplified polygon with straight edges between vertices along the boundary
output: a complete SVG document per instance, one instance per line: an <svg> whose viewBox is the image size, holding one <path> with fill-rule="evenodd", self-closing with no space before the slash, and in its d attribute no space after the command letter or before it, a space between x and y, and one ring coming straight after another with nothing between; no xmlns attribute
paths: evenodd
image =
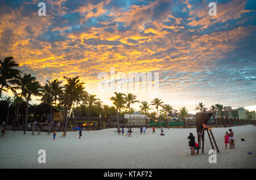
<svg viewBox="0 0 256 180"><path fill-rule="evenodd" d="M131 105L138 103L136 100L137 96L132 93L128 93L127 95L121 92L114 92L114 96L110 97L110 100L113 101L113 106L102 105L100 99L96 97L96 95L90 95L85 91L85 83L81 82L79 76L75 78L67 78L64 76L64 80L66 83L62 85L63 82L60 82L58 79L54 79L51 82L47 80L45 85L40 85L40 83L36 80L36 77L31 74L23 74L21 71L16 68L19 66L18 63L14 61L13 57L7 57L3 61L0 59L0 97L2 97L2 92L7 92L10 89L14 94L14 102L16 106L15 113L15 122L18 121L19 118L19 105L21 102L26 102L26 118L24 124L27 125L28 119L28 103L31 101L32 96L41 97L40 101L51 105L51 114L50 117L52 119L52 108L53 106L56 109L59 109L60 112L64 115L65 122L65 134L68 126L68 117L75 117L75 123L77 115L81 112L86 113L90 117L95 112L95 109L98 109L98 112L105 114L105 116L113 115L113 110L115 109L115 113L117 115L117 125L119 127L119 113L127 112L130 114L135 110L131 108ZM3 97L2 97L3 98ZM139 106L140 112L146 115L149 114L149 110L152 109L150 106L154 106L156 109L157 119L159 120L159 108L160 114L167 116L172 113L172 106L169 104L164 104L161 98L154 98L151 101L151 104L147 101L141 101L141 105ZM207 108L203 105L203 102L200 102L197 105L196 110L200 110L201 112L205 112ZM223 110L223 106L220 104L216 104L211 107L211 110L221 112ZM111 112L111 113L109 113ZM179 117L184 122L184 127L187 127L186 118L188 116L188 110L184 107L180 108ZM160 126L162 126L161 121ZM15 131L14 123L14 131ZM101 122L100 122L101 125ZM167 123L167 126L169 123ZM89 130L90 126L88 127ZM26 127L24 128L24 134L26 134Z"/></svg>

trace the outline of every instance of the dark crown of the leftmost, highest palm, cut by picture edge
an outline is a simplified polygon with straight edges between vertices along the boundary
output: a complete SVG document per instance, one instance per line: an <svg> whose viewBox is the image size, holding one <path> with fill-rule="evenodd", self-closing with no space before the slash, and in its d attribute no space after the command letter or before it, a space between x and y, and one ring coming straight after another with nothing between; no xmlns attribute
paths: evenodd
<svg viewBox="0 0 256 180"><path fill-rule="evenodd" d="M0 97L2 91L7 92L4 88L11 88L10 84L16 84L16 79L19 78L20 72L14 67L18 67L19 64L13 60L13 57L7 57L3 61L0 59Z"/></svg>

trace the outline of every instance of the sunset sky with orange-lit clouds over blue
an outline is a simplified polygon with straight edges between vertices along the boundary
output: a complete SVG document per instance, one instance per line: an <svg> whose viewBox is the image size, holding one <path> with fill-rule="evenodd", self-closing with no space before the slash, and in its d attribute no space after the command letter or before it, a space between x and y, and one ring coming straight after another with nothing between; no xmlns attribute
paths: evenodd
<svg viewBox="0 0 256 180"><path fill-rule="evenodd" d="M159 97L189 113L199 102L256 110L255 12L254 0L2 0L0 59L14 57L42 85L79 76L108 105L117 85L100 87L100 75L111 83L114 68L117 84L131 72L153 74L157 89L133 91L139 101Z"/></svg>

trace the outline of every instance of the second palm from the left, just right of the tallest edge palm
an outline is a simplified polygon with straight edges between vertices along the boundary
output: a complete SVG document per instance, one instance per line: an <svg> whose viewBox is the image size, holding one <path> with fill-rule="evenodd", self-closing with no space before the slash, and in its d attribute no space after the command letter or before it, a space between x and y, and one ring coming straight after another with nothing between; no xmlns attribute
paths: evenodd
<svg viewBox="0 0 256 180"><path fill-rule="evenodd" d="M14 92L14 95L19 96L20 99L22 99L22 97L26 98L27 85L31 82L35 82L35 80L36 80L36 78L31 76L31 74L24 74L22 77L19 76L15 82L16 86L12 87L12 91ZM20 90L21 92L16 93L16 90ZM18 105L17 105L17 109L16 109L16 118L14 121L14 132L15 132L15 127L16 127L16 122L18 122L18 119L19 119L19 105L20 105L20 101L18 101Z"/></svg>

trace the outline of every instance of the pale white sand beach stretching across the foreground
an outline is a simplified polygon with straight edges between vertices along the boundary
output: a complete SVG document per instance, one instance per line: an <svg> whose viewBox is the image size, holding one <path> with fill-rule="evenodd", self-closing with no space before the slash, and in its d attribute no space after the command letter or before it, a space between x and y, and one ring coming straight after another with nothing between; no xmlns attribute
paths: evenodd
<svg viewBox="0 0 256 180"><path fill-rule="evenodd" d="M235 149L225 149L229 128L234 131ZM139 128L133 128L131 138L115 130L82 131L81 139L78 131L67 132L65 139L57 132L56 140L45 132L32 136L7 131L0 138L0 168L256 168L256 127L252 125L212 129L220 149L216 164L208 162L208 136L205 153L190 155L187 136L192 132L197 142L196 128L164 128L165 136L159 135L159 129L152 134L152 128L147 128L146 135L140 135ZM39 149L46 151L45 164L38 163ZM254 154L247 155L248 151Z"/></svg>

